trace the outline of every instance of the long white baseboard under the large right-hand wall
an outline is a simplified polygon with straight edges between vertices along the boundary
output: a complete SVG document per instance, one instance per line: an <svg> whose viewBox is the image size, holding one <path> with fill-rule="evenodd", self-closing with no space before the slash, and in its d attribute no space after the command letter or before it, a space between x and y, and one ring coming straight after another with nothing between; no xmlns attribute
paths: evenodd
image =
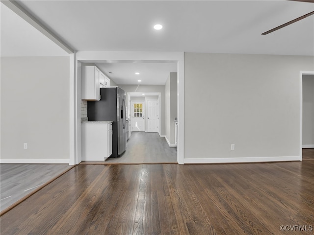
<svg viewBox="0 0 314 235"><path fill-rule="evenodd" d="M301 161L301 157L290 156L290 157L255 157L255 158L185 158L184 164L264 163L264 162L286 162L286 161Z"/></svg>

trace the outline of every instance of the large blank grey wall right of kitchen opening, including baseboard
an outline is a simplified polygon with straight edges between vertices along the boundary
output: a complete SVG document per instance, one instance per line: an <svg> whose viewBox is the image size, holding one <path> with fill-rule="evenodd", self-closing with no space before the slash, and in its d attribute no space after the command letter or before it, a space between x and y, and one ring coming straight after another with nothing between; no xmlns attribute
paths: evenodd
<svg viewBox="0 0 314 235"><path fill-rule="evenodd" d="M300 71L314 58L185 53L184 162L299 160Z"/></svg>

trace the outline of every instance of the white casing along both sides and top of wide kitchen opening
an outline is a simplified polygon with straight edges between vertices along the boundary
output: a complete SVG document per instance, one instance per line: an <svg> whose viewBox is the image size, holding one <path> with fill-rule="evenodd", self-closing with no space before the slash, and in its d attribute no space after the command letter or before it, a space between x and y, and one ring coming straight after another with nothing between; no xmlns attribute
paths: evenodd
<svg viewBox="0 0 314 235"><path fill-rule="evenodd" d="M70 56L71 57L71 56ZM71 57L71 68L73 68L70 74L70 90L73 91L70 95L70 106L73 110L70 112L72 119L70 118L70 126L73 128L70 130L70 164L78 164L81 162L81 129L80 129L80 67L81 63L174 63L178 72L178 122L181 124L178 128L178 146L177 146L177 163L184 164L184 52L152 52L152 51L79 51ZM71 78L74 78L71 80ZM136 79L137 80L137 79ZM124 89L125 90L125 89ZM134 87L129 92L136 91ZM162 89L164 92L164 89ZM126 91L126 90L125 90ZM126 91L127 92L127 91ZM139 91L137 91L139 92ZM161 103L164 99L164 95L161 95ZM159 118L160 123L160 118ZM162 123L161 123L162 124ZM161 125L162 126L162 125ZM159 130L161 129L159 125ZM162 139L162 138L160 138Z"/></svg>

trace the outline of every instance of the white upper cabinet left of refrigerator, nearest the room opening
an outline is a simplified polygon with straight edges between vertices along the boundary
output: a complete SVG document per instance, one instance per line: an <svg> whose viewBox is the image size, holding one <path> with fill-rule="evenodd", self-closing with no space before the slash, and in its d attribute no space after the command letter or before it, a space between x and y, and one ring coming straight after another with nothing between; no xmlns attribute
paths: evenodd
<svg viewBox="0 0 314 235"><path fill-rule="evenodd" d="M96 66L82 66L81 99L100 100L100 75Z"/></svg>

